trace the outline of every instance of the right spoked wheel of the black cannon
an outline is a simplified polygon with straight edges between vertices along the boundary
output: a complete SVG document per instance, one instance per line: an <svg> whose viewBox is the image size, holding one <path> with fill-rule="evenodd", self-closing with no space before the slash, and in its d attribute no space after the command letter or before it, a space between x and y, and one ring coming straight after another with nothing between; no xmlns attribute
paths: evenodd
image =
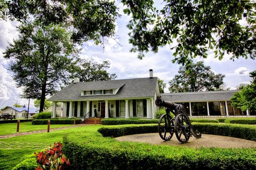
<svg viewBox="0 0 256 170"><path fill-rule="evenodd" d="M190 137L189 118L185 114L178 114L174 122L175 135L181 143L186 143Z"/></svg>

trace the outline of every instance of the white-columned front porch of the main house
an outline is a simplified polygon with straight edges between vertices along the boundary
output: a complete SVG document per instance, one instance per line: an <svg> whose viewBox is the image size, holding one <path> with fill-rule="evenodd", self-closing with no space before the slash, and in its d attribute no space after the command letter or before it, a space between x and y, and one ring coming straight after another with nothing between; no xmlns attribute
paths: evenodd
<svg viewBox="0 0 256 170"><path fill-rule="evenodd" d="M54 101L52 118L56 117L57 102L63 103L60 117L79 118L154 118L157 107L154 98L91 101Z"/></svg>

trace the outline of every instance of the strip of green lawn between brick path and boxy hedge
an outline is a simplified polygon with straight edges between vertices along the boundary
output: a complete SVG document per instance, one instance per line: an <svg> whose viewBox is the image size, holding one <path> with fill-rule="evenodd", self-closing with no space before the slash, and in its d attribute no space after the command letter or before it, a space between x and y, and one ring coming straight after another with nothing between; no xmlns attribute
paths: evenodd
<svg viewBox="0 0 256 170"><path fill-rule="evenodd" d="M73 126L72 124L51 124L50 128L56 127L67 127ZM0 135L9 135L15 134L17 130L17 123L9 123L9 124L0 124ZM22 132L31 132L35 130L47 130L47 125L32 125L31 122L22 122L20 123L20 133Z"/></svg>

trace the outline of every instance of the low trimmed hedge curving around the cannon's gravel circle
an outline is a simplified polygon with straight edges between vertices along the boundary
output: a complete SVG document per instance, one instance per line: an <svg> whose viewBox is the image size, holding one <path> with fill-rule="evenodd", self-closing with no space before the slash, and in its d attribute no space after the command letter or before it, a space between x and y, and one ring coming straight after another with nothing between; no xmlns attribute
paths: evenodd
<svg viewBox="0 0 256 170"><path fill-rule="evenodd" d="M204 123L193 123L193 126L205 126ZM121 125L110 127L108 132L123 135L129 132L145 133L155 131L156 125ZM222 127L213 124L211 127ZM240 127L237 125L228 127ZM248 126L245 126L246 128ZM209 128L209 127L207 127ZM107 128L105 128L106 130ZM118 130L120 129L120 130ZM256 130L256 128L254 128ZM103 131L101 128L99 131ZM166 145L150 145L137 142L119 142L114 138L104 138L99 133L81 131L64 136L63 153L71 161L71 170L229 170L255 169L256 148L223 149L223 148L188 148Z"/></svg>

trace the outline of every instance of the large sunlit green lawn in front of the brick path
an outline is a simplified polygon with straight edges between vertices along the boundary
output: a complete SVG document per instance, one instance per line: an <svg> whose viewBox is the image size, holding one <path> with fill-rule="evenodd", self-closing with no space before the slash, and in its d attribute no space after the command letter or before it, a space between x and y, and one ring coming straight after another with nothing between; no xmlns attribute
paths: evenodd
<svg viewBox="0 0 256 170"><path fill-rule="evenodd" d="M27 126L29 127L29 125ZM47 125L31 125L31 126L47 127ZM60 125L56 124L56 127L58 126ZM55 131L50 131L50 133L47 133L47 132L36 133L31 135L20 135L20 136L14 136L11 138L0 139L0 159L1 159L0 170L11 170L12 167L15 167L16 164L20 163L20 161L23 160L23 156L37 152L39 150L47 149L47 147L50 144L53 144L54 142L58 142L58 141L62 142L62 137L66 133L77 132L79 130L86 130L88 132L93 133L99 127L103 127L103 126L90 125L90 126L75 127L70 129L55 130ZM2 130L2 127L0 127L0 130Z"/></svg>

